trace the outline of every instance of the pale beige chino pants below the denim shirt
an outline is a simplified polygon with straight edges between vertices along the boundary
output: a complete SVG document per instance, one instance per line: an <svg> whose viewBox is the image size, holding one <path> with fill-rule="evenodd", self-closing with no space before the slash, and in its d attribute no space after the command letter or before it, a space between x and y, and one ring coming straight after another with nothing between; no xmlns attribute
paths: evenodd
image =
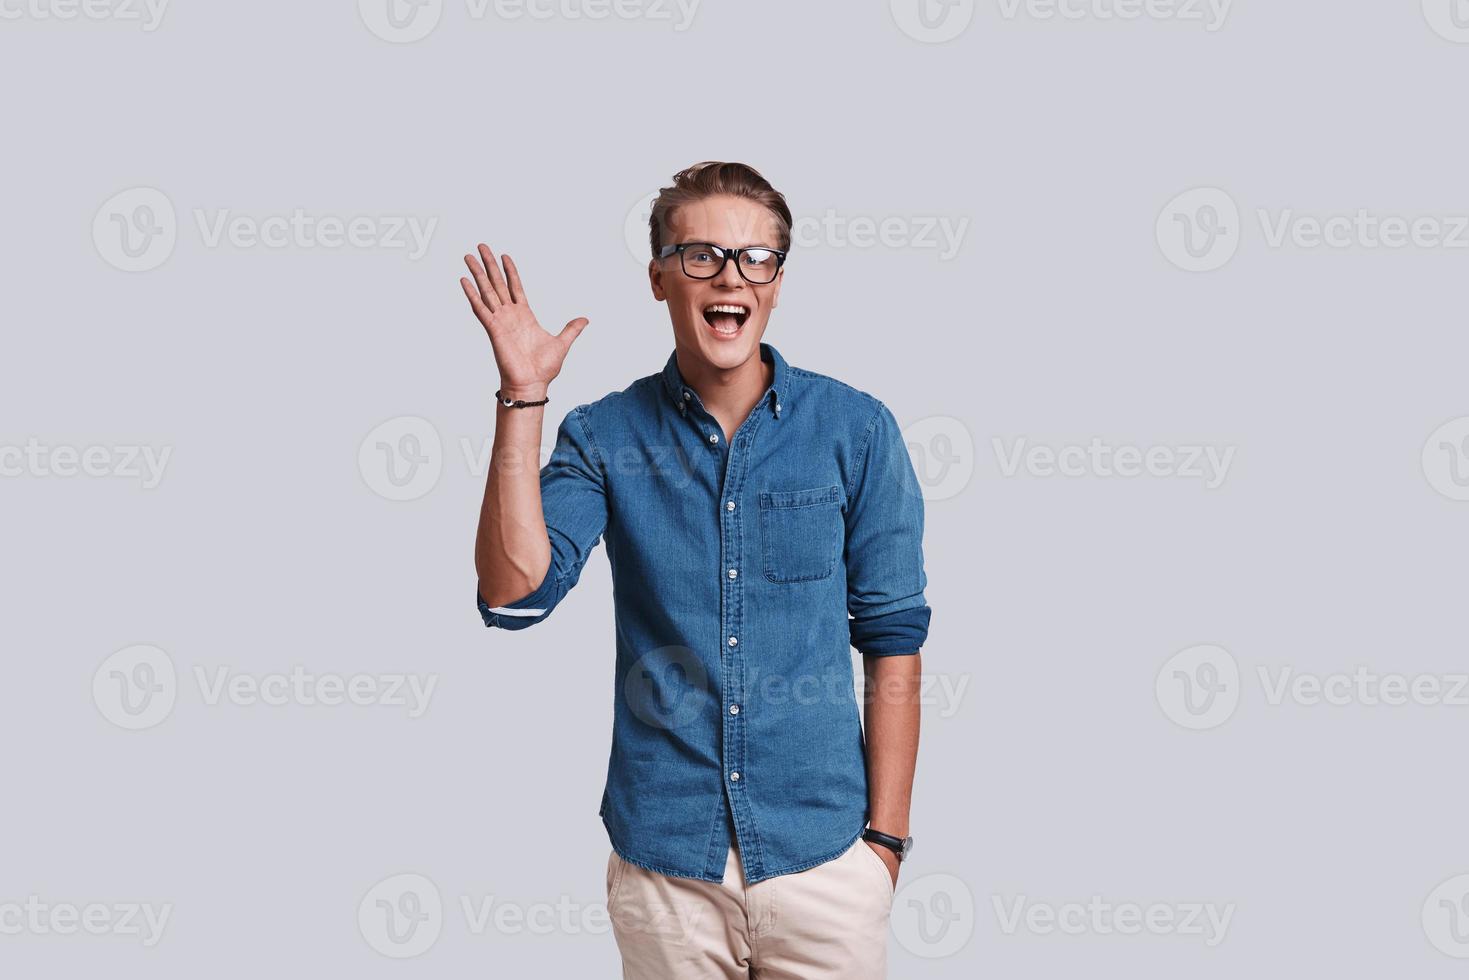
<svg viewBox="0 0 1469 980"><path fill-rule="evenodd" d="M624 980L883 980L893 879L862 840L793 874L745 883L732 845L723 882L607 861L607 909Z"/></svg>

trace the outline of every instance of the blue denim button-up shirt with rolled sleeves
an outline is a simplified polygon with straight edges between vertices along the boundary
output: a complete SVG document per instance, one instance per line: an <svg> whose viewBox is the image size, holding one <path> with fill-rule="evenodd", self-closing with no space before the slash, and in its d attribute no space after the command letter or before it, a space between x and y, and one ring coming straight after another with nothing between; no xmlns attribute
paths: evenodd
<svg viewBox="0 0 1469 980"><path fill-rule="evenodd" d="M861 836L851 648L914 654L928 633L923 497L898 422L759 347L773 383L729 444L674 354L571 408L541 469L545 579L508 605L474 597L486 626L535 626L605 538L617 667L599 815L627 861L708 882L732 830L751 883Z"/></svg>

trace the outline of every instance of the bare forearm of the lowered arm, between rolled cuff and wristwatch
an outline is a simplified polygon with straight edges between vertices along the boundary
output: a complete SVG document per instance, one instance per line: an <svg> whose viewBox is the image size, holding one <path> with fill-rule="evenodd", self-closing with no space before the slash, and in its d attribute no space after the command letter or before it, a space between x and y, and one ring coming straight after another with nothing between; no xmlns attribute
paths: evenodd
<svg viewBox="0 0 1469 980"><path fill-rule="evenodd" d="M918 764L920 654L862 657L867 674L868 823L874 830L908 836L914 770Z"/></svg>

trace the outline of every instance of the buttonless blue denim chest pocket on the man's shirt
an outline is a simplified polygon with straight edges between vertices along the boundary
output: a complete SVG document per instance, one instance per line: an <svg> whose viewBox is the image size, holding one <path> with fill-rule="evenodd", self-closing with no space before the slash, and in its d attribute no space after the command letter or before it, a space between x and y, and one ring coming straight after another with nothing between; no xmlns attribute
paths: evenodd
<svg viewBox="0 0 1469 980"><path fill-rule="evenodd" d="M826 579L846 539L842 486L759 492L759 551L771 582Z"/></svg>

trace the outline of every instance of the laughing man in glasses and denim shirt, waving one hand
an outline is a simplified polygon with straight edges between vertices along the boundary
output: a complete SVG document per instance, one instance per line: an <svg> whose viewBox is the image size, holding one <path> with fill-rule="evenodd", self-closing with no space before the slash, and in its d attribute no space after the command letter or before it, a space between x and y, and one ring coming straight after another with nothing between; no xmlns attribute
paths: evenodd
<svg viewBox="0 0 1469 980"><path fill-rule="evenodd" d="M761 341L790 210L759 173L680 172L649 238L674 350L573 407L539 473L549 385L588 320L546 332L510 256L504 272L486 245L464 257L501 376L479 611L541 623L605 536L617 696L599 815L624 977L883 977L930 620L918 480L883 403Z"/></svg>

